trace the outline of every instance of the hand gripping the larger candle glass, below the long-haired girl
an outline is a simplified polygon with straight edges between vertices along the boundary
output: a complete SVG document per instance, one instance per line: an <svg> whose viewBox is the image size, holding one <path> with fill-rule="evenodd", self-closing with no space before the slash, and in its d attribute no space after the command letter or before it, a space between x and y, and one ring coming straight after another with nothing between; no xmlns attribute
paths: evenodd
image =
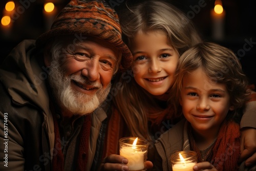
<svg viewBox="0 0 256 171"><path fill-rule="evenodd" d="M117 170L126 171L129 167L126 165L128 160L119 155L110 155L105 157L100 165L100 170ZM146 161L146 168L152 168L153 163L151 161Z"/></svg>

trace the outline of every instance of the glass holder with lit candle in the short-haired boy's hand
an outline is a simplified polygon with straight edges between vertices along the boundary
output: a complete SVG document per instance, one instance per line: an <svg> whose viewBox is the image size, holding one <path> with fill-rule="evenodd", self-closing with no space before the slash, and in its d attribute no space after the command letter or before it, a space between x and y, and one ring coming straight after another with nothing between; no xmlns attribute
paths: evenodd
<svg viewBox="0 0 256 171"><path fill-rule="evenodd" d="M197 163L197 153L194 151L176 152L170 156L173 171L193 171Z"/></svg>

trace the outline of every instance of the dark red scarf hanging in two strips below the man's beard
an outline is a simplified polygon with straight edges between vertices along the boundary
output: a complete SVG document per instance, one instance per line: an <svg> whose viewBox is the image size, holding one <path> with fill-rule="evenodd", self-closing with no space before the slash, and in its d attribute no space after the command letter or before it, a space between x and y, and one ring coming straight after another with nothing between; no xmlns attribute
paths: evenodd
<svg viewBox="0 0 256 171"><path fill-rule="evenodd" d="M64 169L64 155L62 153L61 143L59 143L59 126L56 119L56 116L53 116L54 121L54 151L56 155L53 155L52 159L52 168L54 171L63 171ZM84 122L80 131L80 140L79 140L79 150L77 157L77 171L86 170L87 161L88 161L88 148L89 148L89 139L91 131L91 115L84 116Z"/></svg>

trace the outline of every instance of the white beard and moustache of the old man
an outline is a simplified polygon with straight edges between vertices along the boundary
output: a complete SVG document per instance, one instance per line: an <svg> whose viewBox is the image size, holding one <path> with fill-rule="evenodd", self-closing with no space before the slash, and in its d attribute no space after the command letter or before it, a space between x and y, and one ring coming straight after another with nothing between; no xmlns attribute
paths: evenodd
<svg viewBox="0 0 256 171"><path fill-rule="evenodd" d="M96 87L98 91L94 95L74 91L71 88L71 80ZM111 89L111 83L103 89L100 83L90 81L81 75L65 76L57 60L53 60L49 67L49 82L56 100L61 102L60 106L65 106L74 115L92 113L105 100Z"/></svg>

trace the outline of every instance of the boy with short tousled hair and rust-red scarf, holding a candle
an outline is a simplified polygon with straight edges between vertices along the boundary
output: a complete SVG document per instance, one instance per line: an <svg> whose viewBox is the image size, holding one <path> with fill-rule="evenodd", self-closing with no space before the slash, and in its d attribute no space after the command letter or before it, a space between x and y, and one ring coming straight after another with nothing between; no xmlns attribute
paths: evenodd
<svg viewBox="0 0 256 171"><path fill-rule="evenodd" d="M152 159L160 161L154 163L155 169L172 170L169 156L191 150L198 155L195 170L238 170L238 122L249 92L236 55L214 43L198 44L180 57L175 77L172 89L177 93L170 95L170 101L182 105L186 119L155 144L160 155ZM243 164L240 169L244 170Z"/></svg>

